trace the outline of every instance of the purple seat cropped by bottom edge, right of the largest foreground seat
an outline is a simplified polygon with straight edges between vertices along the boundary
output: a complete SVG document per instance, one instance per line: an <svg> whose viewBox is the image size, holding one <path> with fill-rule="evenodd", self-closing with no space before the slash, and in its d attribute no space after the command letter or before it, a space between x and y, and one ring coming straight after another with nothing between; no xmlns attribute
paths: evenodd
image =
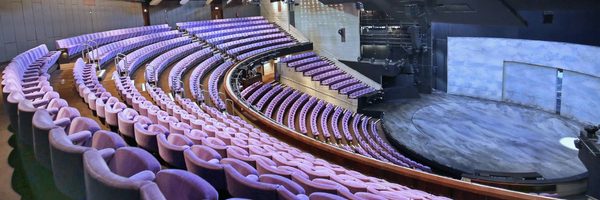
<svg viewBox="0 0 600 200"><path fill-rule="evenodd" d="M210 183L188 171L161 170L156 174L155 181L166 199L219 199L219 193Z"/></svg>

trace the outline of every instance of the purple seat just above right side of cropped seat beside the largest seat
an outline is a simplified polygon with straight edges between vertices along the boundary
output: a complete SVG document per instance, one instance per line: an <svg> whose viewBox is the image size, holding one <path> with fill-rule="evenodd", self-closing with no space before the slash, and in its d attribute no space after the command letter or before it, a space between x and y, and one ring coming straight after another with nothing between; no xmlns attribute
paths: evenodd
<svg viewBox="0 0 600 200"><path fill-rule="evenodd" d="M208 181L217 190L226 190L221 155L204 145L194 145L183 152L187 170Z"/></svg>

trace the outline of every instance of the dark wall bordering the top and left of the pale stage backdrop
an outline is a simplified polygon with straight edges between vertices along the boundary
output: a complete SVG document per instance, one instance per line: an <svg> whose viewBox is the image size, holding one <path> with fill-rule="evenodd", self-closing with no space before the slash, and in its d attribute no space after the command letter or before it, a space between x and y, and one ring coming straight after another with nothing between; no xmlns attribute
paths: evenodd
<svg viewBox="0 0 600 200"><path fill-rule="evenodd" d="M433 87L446 91L448 37L500 37L545 40L600 46L600 12L553 11L551 24L543 23L543 11L518 11L527 26L484 26L432 23Z"/></svg>

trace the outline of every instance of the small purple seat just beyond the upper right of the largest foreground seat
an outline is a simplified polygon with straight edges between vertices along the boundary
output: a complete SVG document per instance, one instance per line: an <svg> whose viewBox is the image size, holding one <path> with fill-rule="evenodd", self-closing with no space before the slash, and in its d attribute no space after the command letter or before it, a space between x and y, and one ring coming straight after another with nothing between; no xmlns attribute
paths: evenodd
<svg viewBox="0 0 600 200"><path fill-rule="evenodd" d="M190 148L194 143L181 134L169 134L166 136L163 133L156 135L158 141L158 154L167 164L185 169L185 160L183 151Z"/></svg>

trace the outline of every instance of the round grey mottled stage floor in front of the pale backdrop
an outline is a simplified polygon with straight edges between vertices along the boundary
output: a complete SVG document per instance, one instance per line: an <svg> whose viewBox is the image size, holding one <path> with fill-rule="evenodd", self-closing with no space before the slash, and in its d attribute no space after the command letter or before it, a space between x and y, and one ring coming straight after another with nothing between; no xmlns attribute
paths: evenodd
<svg viewBox="0 0 600 200"><path fill-rule="evenodd" d="M445 93L369 109L384 111L395 142L465 173L537 172L561 179L587 171L577 150L567 147L572 142L560 142L576 138L582 125L556 114Z"/></svg>

